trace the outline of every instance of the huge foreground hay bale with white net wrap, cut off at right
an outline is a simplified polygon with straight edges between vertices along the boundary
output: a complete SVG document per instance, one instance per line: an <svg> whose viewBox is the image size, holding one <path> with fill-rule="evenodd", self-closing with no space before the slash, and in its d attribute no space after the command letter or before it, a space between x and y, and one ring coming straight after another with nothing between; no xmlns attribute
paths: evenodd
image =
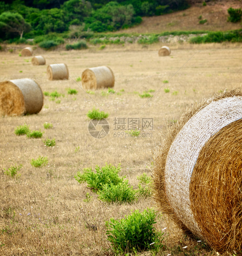
<svg viewBox="0 0 242 256"><path fill-rule="evenodd" d="M154 197L219 252L242 250L242 91L187 108L154 152Z"/></svg>

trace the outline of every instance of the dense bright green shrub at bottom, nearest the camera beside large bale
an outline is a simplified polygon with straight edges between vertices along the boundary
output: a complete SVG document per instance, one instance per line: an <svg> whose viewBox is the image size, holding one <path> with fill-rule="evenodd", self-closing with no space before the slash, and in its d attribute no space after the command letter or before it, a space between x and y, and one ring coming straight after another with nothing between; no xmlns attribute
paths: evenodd
<svg viewBox="0 0 242 256"><path fill-rule="evenodd" d="M153 224L156 214L154 210L143 212L135 210L124 219L110 219L106 222L107 240L111 242L113 251L118 254L162 248L162 233L155 232Z"/></svg>

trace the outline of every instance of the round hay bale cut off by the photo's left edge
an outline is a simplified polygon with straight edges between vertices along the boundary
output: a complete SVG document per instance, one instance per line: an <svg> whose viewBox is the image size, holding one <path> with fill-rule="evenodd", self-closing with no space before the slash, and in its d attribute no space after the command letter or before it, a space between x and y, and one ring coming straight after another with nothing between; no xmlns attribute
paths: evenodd
<svg viewBox="0 0 242 256"><path fill-rule="evenodd" d="M29 78L0 83L1 115L23 115L40 112L44 102L42 90Z"/></svg>

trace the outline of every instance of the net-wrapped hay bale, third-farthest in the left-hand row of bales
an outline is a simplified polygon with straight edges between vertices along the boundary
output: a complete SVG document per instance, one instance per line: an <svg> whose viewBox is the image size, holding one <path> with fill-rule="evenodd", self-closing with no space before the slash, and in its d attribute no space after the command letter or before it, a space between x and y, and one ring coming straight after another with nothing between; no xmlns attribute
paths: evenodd
<svg viewBox="0 0 242 256"><path fill-rule="evenodd" d="M47 67L47 79L62 80L69 78L69 71L67 65L64 63L50 64Z"/></svg>

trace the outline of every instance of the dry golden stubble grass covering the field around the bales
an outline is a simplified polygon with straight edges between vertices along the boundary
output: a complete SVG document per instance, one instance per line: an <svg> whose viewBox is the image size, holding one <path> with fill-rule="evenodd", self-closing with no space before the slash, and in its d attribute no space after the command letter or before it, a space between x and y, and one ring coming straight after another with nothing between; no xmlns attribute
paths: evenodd
<svg viewBox="0 0 242 256"><path fill-rule="evenodd" d="M191 100L201 101L225 88L240 86L241 44L169 47L171 55L162 59L157 54L158 44L148 48L107 46L103 51L93 47L82 50L81 54L61 50L48 52L56 63L67 64L74 81L90 66L109 66L115 75L116 93L106 96L99 91L86 94L81 89L81 82L75 83L72 79L49 81L46 66L33 66L17 54L1 53L1 81L30 77L40 84L42 91L57 90L65 97L58 98L59 104L45 97L44 106L37 115L1 117L0 255L103 255L102 246L107 244L105 221L110 217L123 218L131 210L153 205L151 199L123 205L100 202L86 184L78 184L73 175L82 168L94 168L96 164L121 163L120 175L126 175L130 184L137 188L136 177L148 172L146 162L152 161L149 150L154 143L159 143L159 133L165 129L164 121L177 120ZM36 49L35 53L51 63L41 49ZM166 94L162 88L164 80L169 80L170 92ZM67 88L77 89L78 94L67 94ZM148 102L136 93L151 89L155 92ZM86 113L93 106L98 108L95 102L100 110L109 113L110 131L103 139L95 139L88 132ZM152 137L114 137L117 132L113 130L115 117L153 118ZM45 122L52 123L53 128L44 130ZM44 131L43 139L55 138L56 146L49 148L44 146L42 139L16 136L14 128L24 123L30 130ZM143 133L147 132L150 131ZM31 159L39 156L47 156L48 165L32 167ZM18 179L4 174L4 168L14 164L23 164ZM87 192L93 198L85 203ZM96 225L97 231L86 228L91 227L89 224ZM167 248L159 255L216 255L198 246L196 240L184 237L164 215L157 228L165 227ZM188 247L182 249L184 246Z"/></svg>

